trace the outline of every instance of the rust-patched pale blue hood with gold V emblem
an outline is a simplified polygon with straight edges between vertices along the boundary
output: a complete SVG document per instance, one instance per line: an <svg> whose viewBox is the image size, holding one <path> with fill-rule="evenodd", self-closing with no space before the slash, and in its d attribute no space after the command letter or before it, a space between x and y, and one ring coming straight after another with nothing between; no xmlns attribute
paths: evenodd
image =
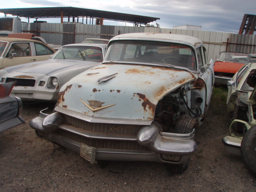
<svg viewBox="0 0 256 192"><path fill-rule="evenodd" d="M62 86L58 106L92 117L152 121L163 96L195 79L190 72L170 68L101 64Z"/></svg>

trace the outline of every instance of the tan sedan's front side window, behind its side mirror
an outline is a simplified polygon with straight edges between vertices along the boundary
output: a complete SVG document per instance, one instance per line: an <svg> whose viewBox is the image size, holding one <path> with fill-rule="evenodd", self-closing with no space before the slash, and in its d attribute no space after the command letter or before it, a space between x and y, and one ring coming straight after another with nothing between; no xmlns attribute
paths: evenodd
<svg viewBox="0 0 256 192"><path fill-rule="evenodd" d="M31 46L30 43L13 43L10 46L8 54L6 57L26 57L31 56Z"/></svg>

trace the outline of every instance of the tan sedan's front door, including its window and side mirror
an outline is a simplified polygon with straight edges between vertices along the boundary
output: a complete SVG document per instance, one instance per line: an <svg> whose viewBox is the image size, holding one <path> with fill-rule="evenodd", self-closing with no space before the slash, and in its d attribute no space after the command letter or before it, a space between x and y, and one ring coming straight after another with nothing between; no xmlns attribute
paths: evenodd
<svg viewBox="0 0 256 192"><path fill-rule="evenodd" d="M2 60L3 68L35 62L30 42L13 42Z"/></svg>

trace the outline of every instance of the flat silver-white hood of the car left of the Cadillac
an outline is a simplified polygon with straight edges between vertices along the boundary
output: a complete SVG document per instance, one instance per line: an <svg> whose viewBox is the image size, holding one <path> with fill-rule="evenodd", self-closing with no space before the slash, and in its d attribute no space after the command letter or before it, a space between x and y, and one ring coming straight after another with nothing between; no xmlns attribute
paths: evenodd
<svg viewBox="0 0 256 192"><path fill-rule="evenodd" d="M98 62L91 61L76 61L76 60L55 60L48 59L40 62L33 62L27 64L21 64L4 68L8 73L23 72L23 73L40 73L51 76L53 74L70 70L72 68L78 68L86 65L96 64Z"/></svg>

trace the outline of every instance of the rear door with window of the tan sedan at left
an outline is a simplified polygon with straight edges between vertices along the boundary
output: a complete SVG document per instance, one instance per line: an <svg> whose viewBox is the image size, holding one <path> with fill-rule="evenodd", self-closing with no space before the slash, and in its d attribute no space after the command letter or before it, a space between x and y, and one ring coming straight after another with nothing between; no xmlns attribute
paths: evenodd
<svg viewBox="0 0 256 192"><path fill-rule="evenodd" d="M54 51L52 49L40 42L33 42L33 48L36 61L50 59L50 56L54 54Z"/></svg>

